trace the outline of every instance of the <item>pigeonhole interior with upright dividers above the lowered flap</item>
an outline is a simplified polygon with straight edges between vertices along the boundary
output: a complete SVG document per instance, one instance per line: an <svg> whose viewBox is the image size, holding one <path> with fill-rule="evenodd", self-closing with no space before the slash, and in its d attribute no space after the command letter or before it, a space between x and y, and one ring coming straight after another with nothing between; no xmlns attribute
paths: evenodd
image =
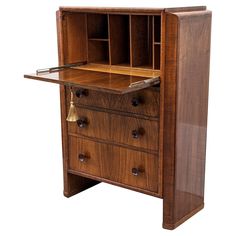
<svg viewBox="0 0 236 236"><path fill-rule="evenodd" d="M68 43L73 48L66 55L67 63L83 59L89 64L84 69L96 63L109 66L94 68L99 71L135 75L139 72L124 68L160 70L161 15L70 13L66 28L65 48Z"/></svg>

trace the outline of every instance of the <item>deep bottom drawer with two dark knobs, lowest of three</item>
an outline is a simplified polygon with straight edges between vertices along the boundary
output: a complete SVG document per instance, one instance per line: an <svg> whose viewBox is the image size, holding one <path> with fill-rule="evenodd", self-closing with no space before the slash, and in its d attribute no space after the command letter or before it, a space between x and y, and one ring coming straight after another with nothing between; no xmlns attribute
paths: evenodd
<svg viewBox="0 0 236 236"><path fill-rule="evenodd" d="M158 155L69 137L69 170L158 193Z"/></svg>

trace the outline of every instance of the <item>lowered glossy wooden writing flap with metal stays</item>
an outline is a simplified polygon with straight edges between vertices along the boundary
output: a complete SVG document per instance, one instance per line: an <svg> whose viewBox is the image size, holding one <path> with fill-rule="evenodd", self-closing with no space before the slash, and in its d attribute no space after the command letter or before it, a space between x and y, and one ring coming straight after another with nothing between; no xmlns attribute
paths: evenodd
<svg viewBox="0 0 236 236"><path fill-rule="evenodd" d="M146 77L119 75L71 68L52 73L25 75L25 78L62 85L81 86L87 89L101 90L117 94L128 93L150 87L149 83L129 87L132 83L147 79Z"/></svg>

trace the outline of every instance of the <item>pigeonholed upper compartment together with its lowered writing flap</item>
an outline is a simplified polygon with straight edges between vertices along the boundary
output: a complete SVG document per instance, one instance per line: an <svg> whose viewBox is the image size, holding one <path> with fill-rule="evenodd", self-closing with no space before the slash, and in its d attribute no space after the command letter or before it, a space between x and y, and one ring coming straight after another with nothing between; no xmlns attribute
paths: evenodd
<svg viewBox="0 0 236 236"><path fill-rule="evenodd" d="M160 77L161 47L154 42L161 38L160 19L160 15L64 12L61 56L65 65L83 65L25 77L116 94L151 87L158 81L146 80Z"/></svg>

